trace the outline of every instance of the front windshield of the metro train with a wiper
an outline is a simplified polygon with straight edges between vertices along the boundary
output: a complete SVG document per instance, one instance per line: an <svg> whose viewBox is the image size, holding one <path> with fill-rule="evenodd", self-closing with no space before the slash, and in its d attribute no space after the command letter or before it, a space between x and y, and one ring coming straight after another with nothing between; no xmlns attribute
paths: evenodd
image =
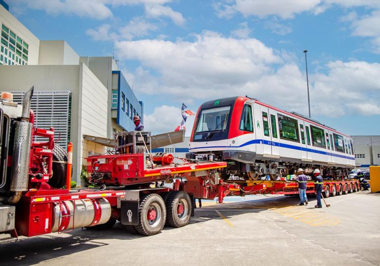
<svg viewBox="0 0 380 266"><path fill-rule="evenodd" d="M224 106L202 110L195 133L225 131L230 108L230 106Z"/></svg>

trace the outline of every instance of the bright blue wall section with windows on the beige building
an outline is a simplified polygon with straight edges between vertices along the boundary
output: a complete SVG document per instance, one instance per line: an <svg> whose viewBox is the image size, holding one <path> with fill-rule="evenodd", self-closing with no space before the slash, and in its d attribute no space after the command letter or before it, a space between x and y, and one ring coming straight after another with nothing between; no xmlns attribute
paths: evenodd
<svg viewBox="0 0 380 266"><path fill-rule="evenodd" d="M135 124L133 116L141 117L141 123L144 124L144 104L137 100L127 80L120 70L112 71L112 74L117 75L117 118L116 123L125 131L133 131ZM113 88L115 86L113 85Z"/></svg>

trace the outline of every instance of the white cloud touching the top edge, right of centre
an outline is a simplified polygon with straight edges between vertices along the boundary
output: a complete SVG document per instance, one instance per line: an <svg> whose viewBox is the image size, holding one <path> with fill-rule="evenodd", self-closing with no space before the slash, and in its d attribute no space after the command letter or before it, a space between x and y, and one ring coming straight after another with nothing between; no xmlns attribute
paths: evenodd
<svg viewBox="0 0 380 266"><path fill-rule="evenodd" d="M219 17L230 17L234 12L240 12L245 17L258 16L261 18L275 15L283 19L294 18L296 14L304 11L312 11L321 0L236 0L232 5L214 5Z"/></svg>

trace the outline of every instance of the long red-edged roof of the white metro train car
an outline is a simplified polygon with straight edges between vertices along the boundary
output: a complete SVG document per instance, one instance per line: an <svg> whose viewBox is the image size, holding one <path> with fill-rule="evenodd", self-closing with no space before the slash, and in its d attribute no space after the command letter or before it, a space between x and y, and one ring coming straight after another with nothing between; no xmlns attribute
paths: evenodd
<svg viewBox="0 0 380 266"><path fill-rule="evenodd" d="M216 99L216 100L209 100L209 101L206 101L205 103L203 103L203 104L201 105L201 107L203 107L203 108L212 108L212 107L217 107L217 106L225 106L225 105L229 105L229 104L235 103L235 101L236 101L238 98L242 98L242 99L245 98L246 100L254 100L256 103L258 103L258 104L260 104L260 105L266 106L266 107L268 107L268 108L272 108L272 109L274 109L274 110L277 110L277 111L280 111L280 112L283 112L283 113L286 113L286 114L288 114L288 115L291 115L291 116L297 117L297 118L302 119L302 120L304 120L304 121L307 121L307 122L309 122L309 123L311 123L311 124L317 125L317 126L319 126L319 127L322 127L322 128L325 128L325 129L328 129L328 130L331 130L331 131L334 131L334 132L336 132L336 133L339 133L339 134L342 134L342 135L344 135L344 136L346 136L346 137L351 138L349 135L343 134L343 133L337 131L337 130L334 129L334 128L328 127L328 126L322 124L321 122L319 122L319 121L317 121L317 120L315 120L315 119L312 119L312 118L310 118L310 117L307 117L307 116L302 115L302 114L297 113L297 112L287 112L287 111L285 111L285 110L282 110L282 109L277 108L277 107L273 107L273 106L271 106L271 105L269 105L269 104L266 104L266 103L264 103L264 102L262 102L262 101L260 101L260 100L258 100L258 99L251 98L251 97L248 97L248 96L245 96L245 97L243 97L243 96L234 96L234 97L221 98L221 99ZM218 104L216 105L217 102L218 102Z"/></svg>

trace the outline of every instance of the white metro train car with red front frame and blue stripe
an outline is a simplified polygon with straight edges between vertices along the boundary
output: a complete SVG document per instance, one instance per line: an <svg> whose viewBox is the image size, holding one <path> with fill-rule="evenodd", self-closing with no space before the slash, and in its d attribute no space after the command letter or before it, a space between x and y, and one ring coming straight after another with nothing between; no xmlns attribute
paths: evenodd
<svg viewBox="0 0 380 266"><path fill-rule="evenodd" d="M353 141L320 122L249 97L203 103L196 114L188 159L227 161L231 175L282 180L299 167L342 179L355 166Z"/></svg>

